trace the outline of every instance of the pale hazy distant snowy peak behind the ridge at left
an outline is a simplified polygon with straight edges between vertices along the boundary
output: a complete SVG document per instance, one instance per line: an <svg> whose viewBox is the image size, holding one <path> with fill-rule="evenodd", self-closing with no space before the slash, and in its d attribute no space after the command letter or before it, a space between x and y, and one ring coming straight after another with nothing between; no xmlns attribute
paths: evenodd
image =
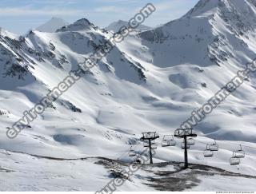
<svg viewBox="0 0 256 194"><path fill-rule="evenodd" d="M68 22L63 20L62 18L51 18L50 21L46 22L42 26L38 26L36 30L40 32L46 32L46 33L53 33L62 26L67 26L69 25Z"/></svg>

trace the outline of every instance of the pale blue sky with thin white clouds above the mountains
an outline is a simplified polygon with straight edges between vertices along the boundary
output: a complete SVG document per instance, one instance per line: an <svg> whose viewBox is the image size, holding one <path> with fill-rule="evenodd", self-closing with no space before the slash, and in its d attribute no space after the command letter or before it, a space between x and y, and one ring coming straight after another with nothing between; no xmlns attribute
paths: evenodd
<svg viewBox="0 0 256 194"><path fill-rule="evenodd" d="M128 21L149 1L146 0L0 0L0 26L25 34L52 17L75 22L88 18L105 27L122 19ZM147 26L158 26L186 14L198 0L151 0L157 11L146 19Z"/></svg>

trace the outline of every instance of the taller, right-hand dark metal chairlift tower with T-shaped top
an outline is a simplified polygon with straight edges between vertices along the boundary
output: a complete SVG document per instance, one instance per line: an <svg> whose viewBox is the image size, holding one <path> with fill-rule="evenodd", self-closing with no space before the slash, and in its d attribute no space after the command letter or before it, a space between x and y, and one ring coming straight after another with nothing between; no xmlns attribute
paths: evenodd
<svg viewBox="0 0 256 194"><path fill-rule="evenodd" d="M174 137L179 137L184 139L184 168L188 168L187 160L187 137L197 137L197 134L193 133L193 129L176 129L174 132Z"/></svg>

